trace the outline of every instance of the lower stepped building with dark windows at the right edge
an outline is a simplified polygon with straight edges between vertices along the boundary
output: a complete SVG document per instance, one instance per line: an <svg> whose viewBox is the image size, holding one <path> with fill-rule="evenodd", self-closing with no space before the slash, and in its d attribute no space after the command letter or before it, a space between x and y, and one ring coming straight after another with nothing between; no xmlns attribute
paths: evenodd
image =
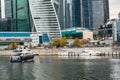
<svg viewBox="0 0 120 80"><path fill-rule="evenodd" d="M120 20L112 19L99 28L99 36L104 41L120 42Z"/></svg>

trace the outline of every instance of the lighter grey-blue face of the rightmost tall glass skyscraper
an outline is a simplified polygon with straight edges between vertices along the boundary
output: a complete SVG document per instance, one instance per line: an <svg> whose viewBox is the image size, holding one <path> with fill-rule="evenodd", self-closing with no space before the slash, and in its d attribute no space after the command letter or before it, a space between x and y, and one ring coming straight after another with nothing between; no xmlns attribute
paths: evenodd
<svg viewBox="0 0 120 80"><path fill-rule="evenodd" d="M104 6L102 0L92 1L92 12L93 28L97 30L100 25L104 24Z"/></svg>

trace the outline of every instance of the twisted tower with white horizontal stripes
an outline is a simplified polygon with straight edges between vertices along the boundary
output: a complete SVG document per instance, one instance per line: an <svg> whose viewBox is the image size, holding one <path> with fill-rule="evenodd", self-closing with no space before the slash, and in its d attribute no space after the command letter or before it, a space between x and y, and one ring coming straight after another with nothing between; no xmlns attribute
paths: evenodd
<svg viewBox="0 0 120 80"><path fill-rule="evenodd" d="M34 27L51 38L61 37L61 29L53 0L29 0Z"/></svg>

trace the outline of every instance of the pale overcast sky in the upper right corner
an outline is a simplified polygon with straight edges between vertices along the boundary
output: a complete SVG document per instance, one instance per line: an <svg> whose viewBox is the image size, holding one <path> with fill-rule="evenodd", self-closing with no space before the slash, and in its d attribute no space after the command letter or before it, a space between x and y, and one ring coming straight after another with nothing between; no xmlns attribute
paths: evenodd
<svg viewBox="0 0 120 80"><path fill-rule="evenodd" d="M120 12L120 0L109 0L110 19L118 18Z"/></svg>

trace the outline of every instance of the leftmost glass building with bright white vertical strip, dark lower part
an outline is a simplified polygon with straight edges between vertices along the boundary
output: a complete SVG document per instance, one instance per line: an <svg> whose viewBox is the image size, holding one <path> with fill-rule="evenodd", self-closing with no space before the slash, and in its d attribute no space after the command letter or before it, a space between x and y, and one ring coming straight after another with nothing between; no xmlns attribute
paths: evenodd
<svg viewBox="0 0 120 80"><path fill-rule="evenodd" d="M11 0L1 0L0 3L2 3L0 5L0 31L11 31Z"/></svg>

